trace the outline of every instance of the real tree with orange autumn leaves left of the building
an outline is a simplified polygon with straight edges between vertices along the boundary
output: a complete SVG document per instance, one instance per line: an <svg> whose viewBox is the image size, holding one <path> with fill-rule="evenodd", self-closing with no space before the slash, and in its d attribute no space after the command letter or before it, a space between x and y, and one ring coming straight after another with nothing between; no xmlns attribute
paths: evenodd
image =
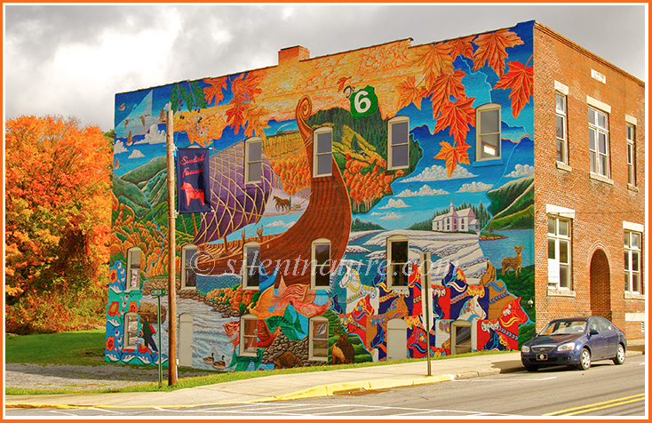
<svg viewBox="0 0 652 423"><path fill-rule="evenodd" d="M101 322L110 143L97 127L51 116L9 120L4 135L6 330Z"/></svg>

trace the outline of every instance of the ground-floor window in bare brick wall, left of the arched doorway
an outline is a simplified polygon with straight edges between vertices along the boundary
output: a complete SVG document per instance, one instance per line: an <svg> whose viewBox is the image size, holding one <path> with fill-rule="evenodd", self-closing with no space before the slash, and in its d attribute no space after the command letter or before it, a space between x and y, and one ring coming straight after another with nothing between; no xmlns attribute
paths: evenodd
<svg viewBox="0 0 652 423"><path fill-rule="evenodd" d="M570 289L570 219L548 216L548 288Z"/></svg>

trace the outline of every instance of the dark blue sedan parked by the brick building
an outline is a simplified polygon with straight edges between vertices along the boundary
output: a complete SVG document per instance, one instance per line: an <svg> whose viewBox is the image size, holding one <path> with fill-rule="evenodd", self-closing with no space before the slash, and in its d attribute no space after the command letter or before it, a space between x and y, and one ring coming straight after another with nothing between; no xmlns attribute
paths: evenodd
<svg viewBox="0 0 652 423"><path fill-rule="evenodd" d="M627 340L604 317L555 319L521 347L521 363L527 371L540 367L575 366L586 370L598 360L624 363Z"/></svg>

